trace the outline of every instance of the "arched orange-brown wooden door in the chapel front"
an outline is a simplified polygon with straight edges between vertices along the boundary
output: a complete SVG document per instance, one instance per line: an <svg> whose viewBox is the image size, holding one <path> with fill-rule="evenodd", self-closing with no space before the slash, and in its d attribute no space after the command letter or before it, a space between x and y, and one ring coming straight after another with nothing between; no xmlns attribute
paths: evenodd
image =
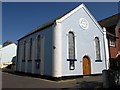
<svg viewBox="0 0 120 90"><path fill-rule="evenodd" d="M88 56L83 57L83 75L91 74L91 64Z"/></svg>

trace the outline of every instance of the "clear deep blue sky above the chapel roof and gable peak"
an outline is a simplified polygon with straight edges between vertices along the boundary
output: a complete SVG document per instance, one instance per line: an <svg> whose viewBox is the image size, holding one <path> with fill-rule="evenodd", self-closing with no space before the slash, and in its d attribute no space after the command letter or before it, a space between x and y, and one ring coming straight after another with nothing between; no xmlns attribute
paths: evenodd
<svg viewBox="0 0 120 90"><path fill-rule="evenodd" d="M3 2L2 42L18 39L36 27L74 9L81 2ZM118 2L85 2L97 21L118 13Z"/></svg>

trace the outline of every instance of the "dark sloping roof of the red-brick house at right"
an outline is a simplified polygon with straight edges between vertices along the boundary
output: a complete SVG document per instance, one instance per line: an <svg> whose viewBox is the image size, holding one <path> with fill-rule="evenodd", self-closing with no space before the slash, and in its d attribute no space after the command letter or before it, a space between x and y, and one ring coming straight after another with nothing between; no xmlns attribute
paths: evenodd
<svg viewBox="0 0 120 90"><path fill-rule="evenodd" d="M118 22L120 20L120 13L117 13L115 15L112 15L108 18L105 18L103 20L98 21L98 23L102 26L102 27L110 27L113 25L117 25Z"/></svg>

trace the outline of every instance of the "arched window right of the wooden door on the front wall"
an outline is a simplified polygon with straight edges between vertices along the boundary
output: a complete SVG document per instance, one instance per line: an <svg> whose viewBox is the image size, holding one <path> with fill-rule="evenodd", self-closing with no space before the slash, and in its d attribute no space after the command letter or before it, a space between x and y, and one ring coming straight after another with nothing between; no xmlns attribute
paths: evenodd
<svg viewBox="0 0 120 90"><path fill-rule="evenodd" d="M96 60L101 60L100 41L98 37L95 37L95 49L96 49Z"/></svg>

